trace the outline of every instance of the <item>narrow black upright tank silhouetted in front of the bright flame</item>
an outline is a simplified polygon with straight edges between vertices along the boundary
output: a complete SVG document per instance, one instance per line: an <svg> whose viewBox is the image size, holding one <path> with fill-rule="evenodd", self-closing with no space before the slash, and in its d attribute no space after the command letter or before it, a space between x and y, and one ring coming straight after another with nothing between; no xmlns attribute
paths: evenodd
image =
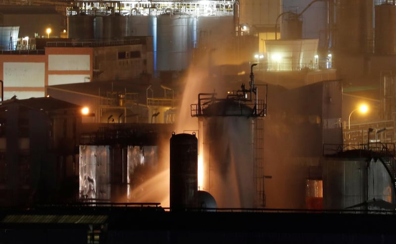
<svg viewBox="0 0 396 244"><path fill-rule="evenodd" d="M195 206L198 191L198 139L195 133L172 132L169 178L171 210Z"/></svg>

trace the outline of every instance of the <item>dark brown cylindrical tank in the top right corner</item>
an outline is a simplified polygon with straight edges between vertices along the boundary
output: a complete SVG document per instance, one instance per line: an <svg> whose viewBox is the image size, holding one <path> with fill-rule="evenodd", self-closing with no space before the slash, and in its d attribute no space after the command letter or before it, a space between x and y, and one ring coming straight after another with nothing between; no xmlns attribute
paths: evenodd
<svg viewBox="0 0 396 244"><path fill-rule="evenodd" d="M375 53L396 54L396 6L375 6Z"/></svg>

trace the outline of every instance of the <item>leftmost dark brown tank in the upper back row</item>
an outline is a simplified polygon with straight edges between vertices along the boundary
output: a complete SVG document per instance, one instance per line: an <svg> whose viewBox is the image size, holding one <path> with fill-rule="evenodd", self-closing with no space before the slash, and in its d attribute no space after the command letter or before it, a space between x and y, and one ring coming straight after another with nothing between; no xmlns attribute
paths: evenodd
<svg viewBox="0 0 396 244"><path fill-rule="evenodd" d="M92 40L95 38L94 19L92 15L70 15L67 18L68 38Z"/></svg>

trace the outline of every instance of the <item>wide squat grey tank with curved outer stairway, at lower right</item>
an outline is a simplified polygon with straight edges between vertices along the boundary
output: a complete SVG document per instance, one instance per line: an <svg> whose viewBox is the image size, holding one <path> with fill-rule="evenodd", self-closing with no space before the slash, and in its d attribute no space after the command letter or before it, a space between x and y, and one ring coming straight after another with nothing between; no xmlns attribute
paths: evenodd
<svg viewBox="0 0 396 244"><path fill-rule="evenodd" d="M394 203L392 180L380 159L325 158L323 163L323 208L366 209L366 203L382 200ZM370 209L378 208L375 205Z"/></svg>

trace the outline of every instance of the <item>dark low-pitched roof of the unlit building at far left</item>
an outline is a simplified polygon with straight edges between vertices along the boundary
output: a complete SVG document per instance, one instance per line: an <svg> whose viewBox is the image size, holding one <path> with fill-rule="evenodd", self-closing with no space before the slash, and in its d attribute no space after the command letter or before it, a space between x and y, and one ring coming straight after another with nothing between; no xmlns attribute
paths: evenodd
<svg viewBox="0 0 396 244"><path fill-rule="evenodd" d="M19 103L24 107L44 111L56 111L61 109L78 109L81 106L69 102L65 102L52 97L32 97L29 99L11 98L1 103L1 106L7 106L10 103Z"/></svg>

